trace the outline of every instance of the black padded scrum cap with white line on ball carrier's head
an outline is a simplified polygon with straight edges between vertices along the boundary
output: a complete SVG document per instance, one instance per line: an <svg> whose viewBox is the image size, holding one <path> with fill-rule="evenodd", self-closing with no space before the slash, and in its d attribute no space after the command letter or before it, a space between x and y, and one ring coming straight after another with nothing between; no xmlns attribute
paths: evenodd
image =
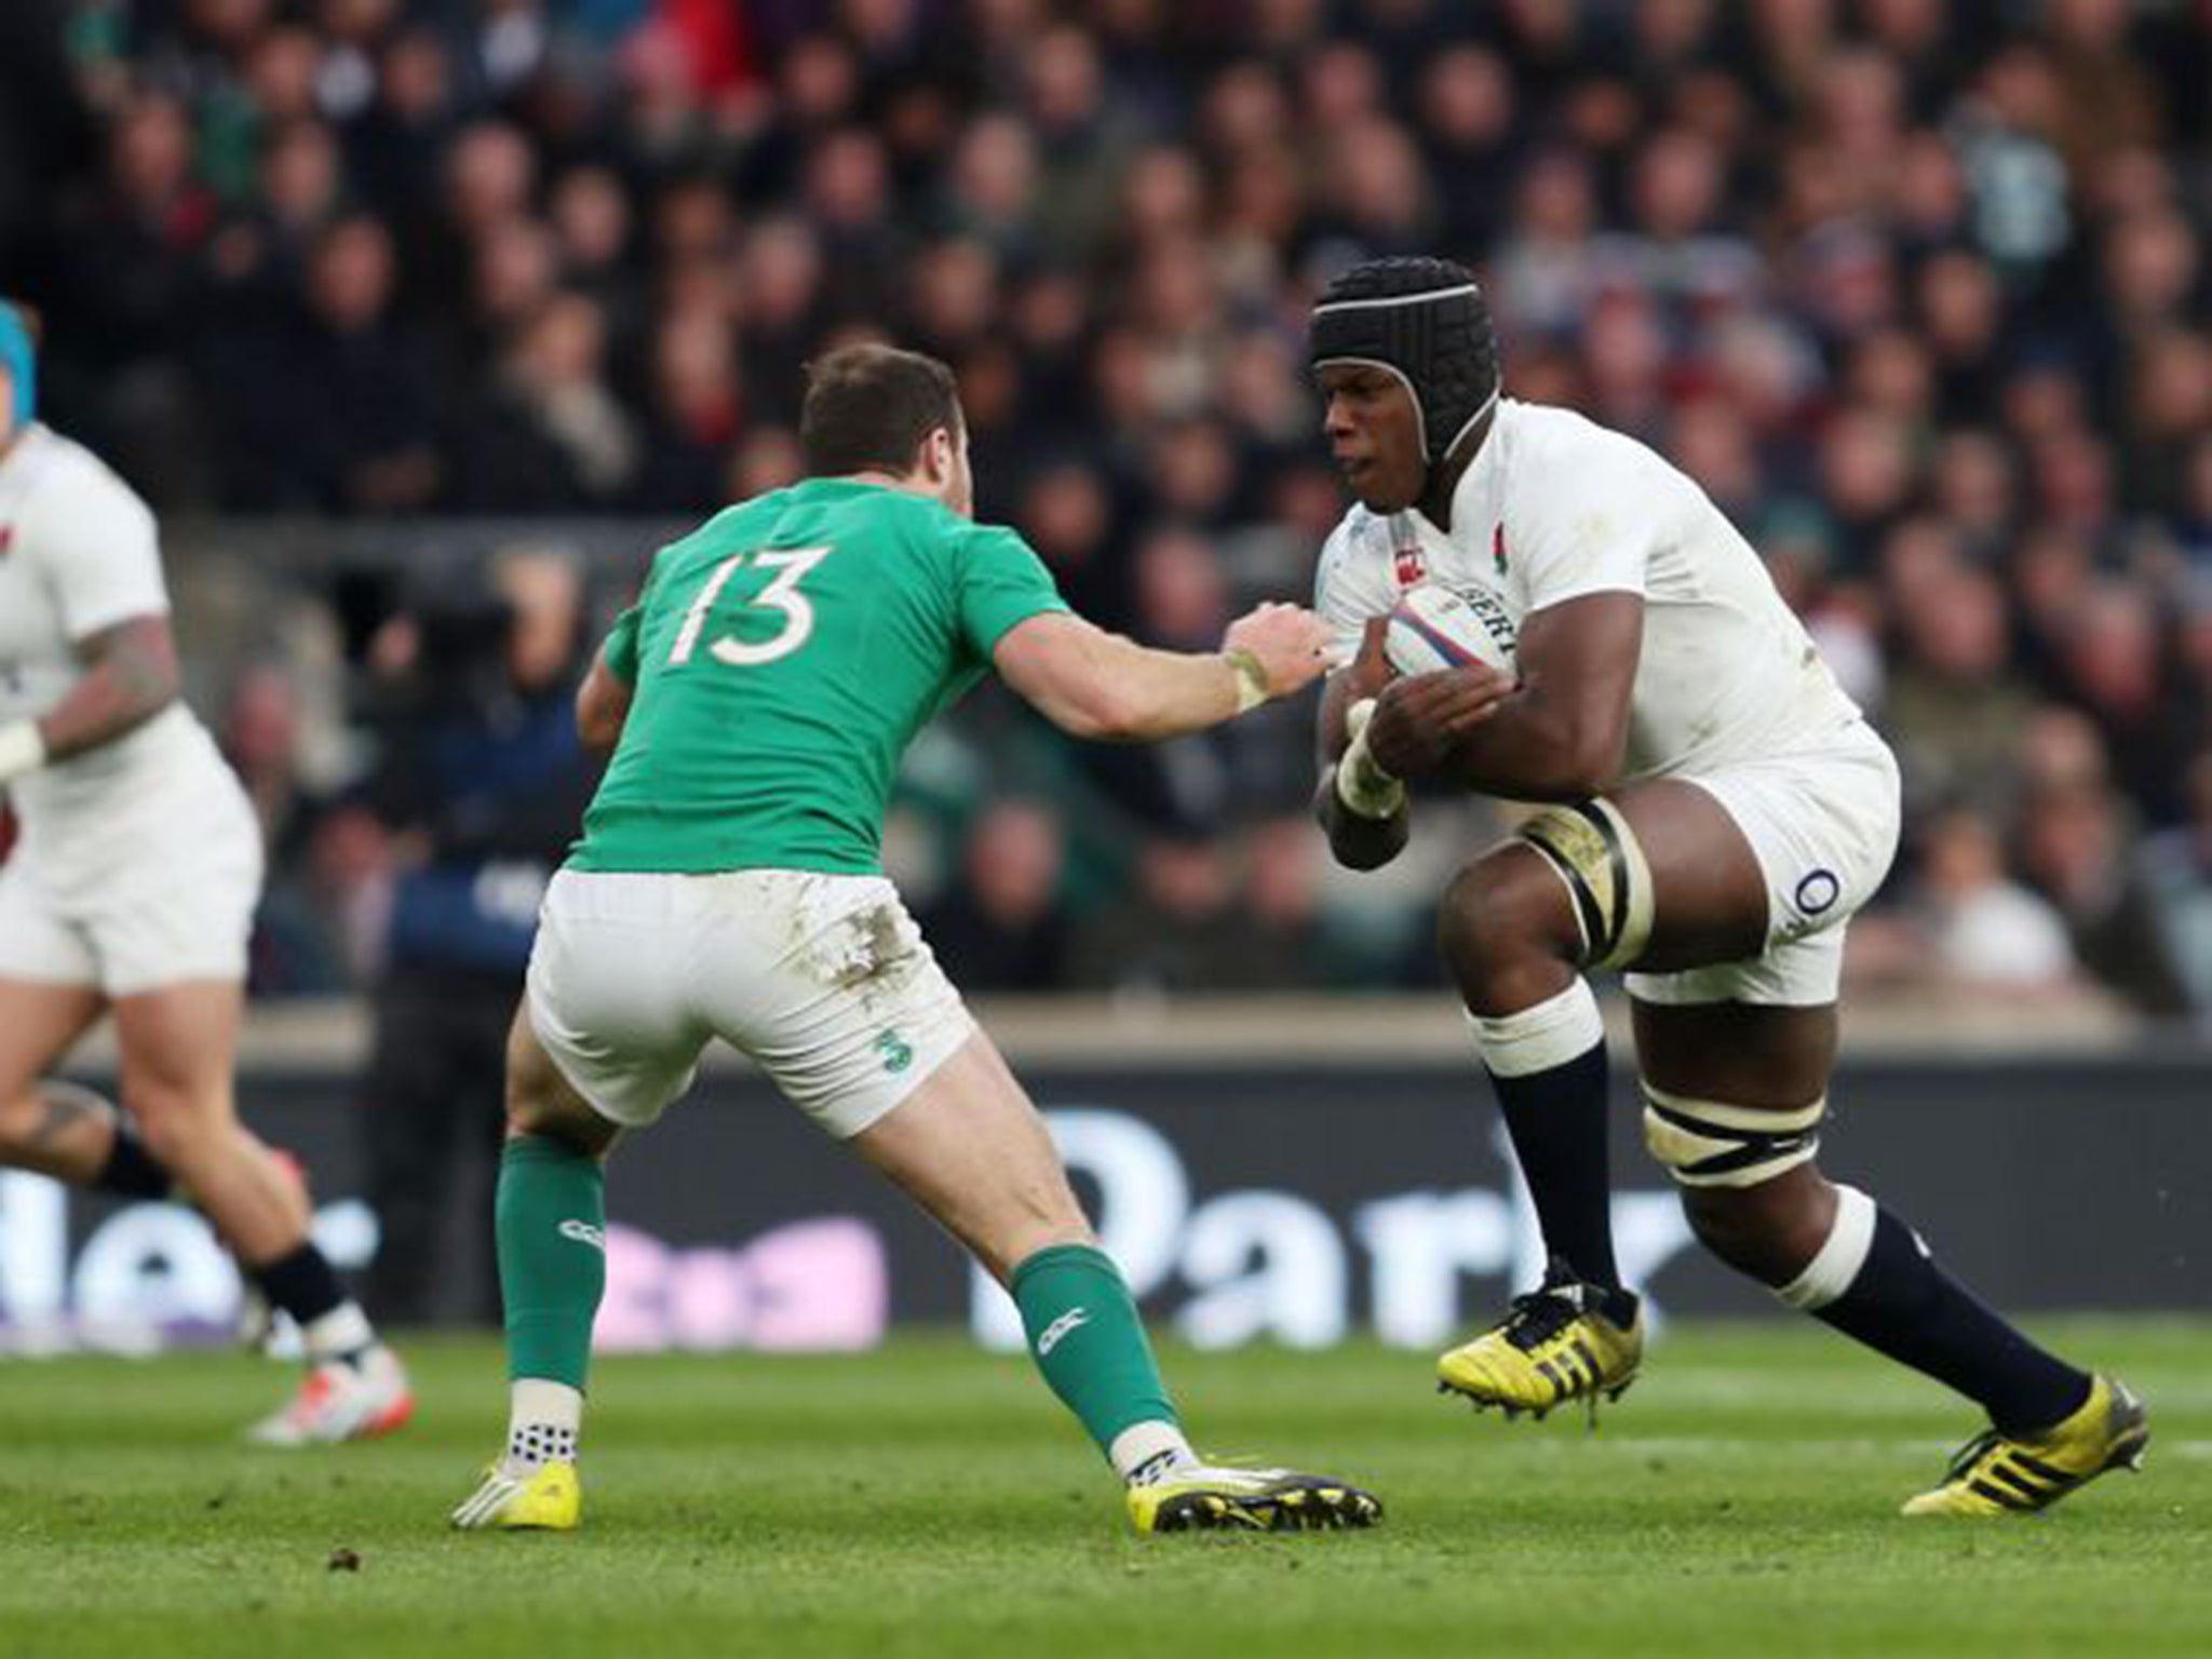
<svg viewBox="0 0 2212 1659"><path fill-rule="evenodd" d="M1312 363L1367 363L1413 394L1433 467L1498 403L1498 330L1473 272L1449 259L1367 259L1314 305Z"/></svg>

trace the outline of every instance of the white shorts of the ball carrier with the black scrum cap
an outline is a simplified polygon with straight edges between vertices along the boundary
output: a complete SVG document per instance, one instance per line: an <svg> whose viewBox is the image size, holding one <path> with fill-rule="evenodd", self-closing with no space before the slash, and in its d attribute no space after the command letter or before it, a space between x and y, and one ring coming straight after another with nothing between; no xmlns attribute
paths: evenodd
<svg viewBox="0 0 2212 1659"><path fill-rule="evenodd" d="M1871 726L1823 748L1683 774L1721 807L1767 878L1767 947L1681 973L1626 973L1641 1002L1818 1006L1843 982L1843 933L1898 852L1898 761Z"/></svg>

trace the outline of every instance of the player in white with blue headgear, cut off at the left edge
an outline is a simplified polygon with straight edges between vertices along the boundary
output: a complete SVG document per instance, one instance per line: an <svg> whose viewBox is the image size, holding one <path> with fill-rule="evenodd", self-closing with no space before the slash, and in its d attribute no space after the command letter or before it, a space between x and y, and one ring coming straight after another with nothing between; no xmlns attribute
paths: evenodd
<svg viewBox="0 0 2212 1659"><path fill-rule="evenodd" d="M237 1119L232 1062L261 827L177 697L153 513L38 422L35 323L0 303L0 1164L186 1194L307 1376L268 1444L400 1427L407 1378L307 1237L301 1183ZM128 1119L46 1073L113 1011ZM133 1133L135 1124L135 1133Z"/></svg>

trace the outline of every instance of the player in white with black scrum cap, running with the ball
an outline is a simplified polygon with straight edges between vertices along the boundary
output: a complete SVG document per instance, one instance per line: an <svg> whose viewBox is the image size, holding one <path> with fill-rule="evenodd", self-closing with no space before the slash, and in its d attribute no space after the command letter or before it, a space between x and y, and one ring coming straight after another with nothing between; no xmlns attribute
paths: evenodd
<svg viewBox="0 0 2212 1659"><path fill-rule="evenodd" d="M1705 1248L1989 1411L1905 1513L2033 1511L2137 1464L2148 1427L2126 1387L2039 1349L1814 1161L1843 931L1889 869L1898 772L1752 546L1637 440L1502 398L1460 265L1347 270L1314 310L1312 365L1358 502L1316 599L1358 650L1321 712L1336 858L1394 858L1416 779L1544 803L1458 874L1438 940L1551 1267L1438 1360L1440 1383L1542 1413L1637 1376L1586 978L1626 969L1646 1146ZM1420 584L1478 595L1515 668L1391 675L1380 619Z"/></svg>

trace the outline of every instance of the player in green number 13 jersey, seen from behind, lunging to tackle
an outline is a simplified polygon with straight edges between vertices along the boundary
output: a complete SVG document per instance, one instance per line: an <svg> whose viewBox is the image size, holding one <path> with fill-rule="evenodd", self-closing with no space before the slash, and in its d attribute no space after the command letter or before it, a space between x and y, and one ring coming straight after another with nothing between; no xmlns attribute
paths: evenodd
<svg viewBox="0 0 2212 1659"><path fill-rule="evenodd" d="M580 1522L604 1161L690 1088L712 1037L1013 1292L1139 1531L1374 1524L1376 1500L1340 1480L1192 1453L1128 1285L878 845L907 743L987 670L1077 737L1164 739L1310 686L1321 622L1267 604L1190 655L1073 615L1020 535L971 522L967 422L933 358L834 352L799 436L810 478L661 549L577 697L586 741L615 754L546 894L509 1040L513 1416L453 1524Z"/></svg>

